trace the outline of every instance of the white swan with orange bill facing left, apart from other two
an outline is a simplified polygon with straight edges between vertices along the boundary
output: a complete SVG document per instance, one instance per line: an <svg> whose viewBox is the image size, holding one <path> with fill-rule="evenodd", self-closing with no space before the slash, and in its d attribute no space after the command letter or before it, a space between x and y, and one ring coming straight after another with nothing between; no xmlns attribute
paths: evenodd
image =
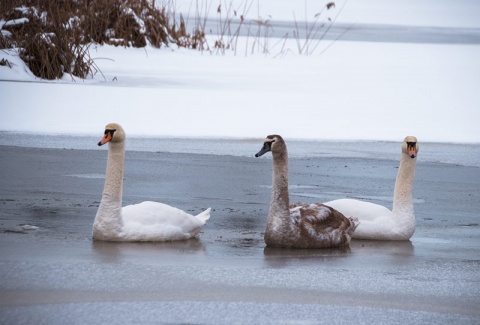
<svg viewBox="0 0 480 325"><path fill-rule="evenodd" d="M105 127L99 146L108 143L102 201L93 223L93 239L106 241L173 241L195 237L210 218L210 208L197 216L157 202L122 208L125 132L116 123Z"/></svg>

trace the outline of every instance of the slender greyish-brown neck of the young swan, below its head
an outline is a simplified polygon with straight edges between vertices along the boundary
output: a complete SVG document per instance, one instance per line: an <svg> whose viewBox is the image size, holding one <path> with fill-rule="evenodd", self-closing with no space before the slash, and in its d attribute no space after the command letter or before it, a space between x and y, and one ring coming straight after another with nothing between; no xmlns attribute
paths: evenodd
<svg viewBox="0 0 480 325"><path fill-rule="evenodd" d="M271 216L290 216L288 198L288 154L283 152L272 153L273 155L273 191L270 203L269 222Z"/></svg>

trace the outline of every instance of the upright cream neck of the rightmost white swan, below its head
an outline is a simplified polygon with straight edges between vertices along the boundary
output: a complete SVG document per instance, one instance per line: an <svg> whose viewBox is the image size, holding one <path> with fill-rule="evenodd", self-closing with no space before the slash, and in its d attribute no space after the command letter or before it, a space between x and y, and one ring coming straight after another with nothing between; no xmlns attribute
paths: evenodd
<svg viewBox="0 0 480 325"><path fill-rule="evenodd" d="M402 154L398 167L395 190L393 192L393 213L406 214L414 218L413 211L413 177L416 158Z"/></svg>

